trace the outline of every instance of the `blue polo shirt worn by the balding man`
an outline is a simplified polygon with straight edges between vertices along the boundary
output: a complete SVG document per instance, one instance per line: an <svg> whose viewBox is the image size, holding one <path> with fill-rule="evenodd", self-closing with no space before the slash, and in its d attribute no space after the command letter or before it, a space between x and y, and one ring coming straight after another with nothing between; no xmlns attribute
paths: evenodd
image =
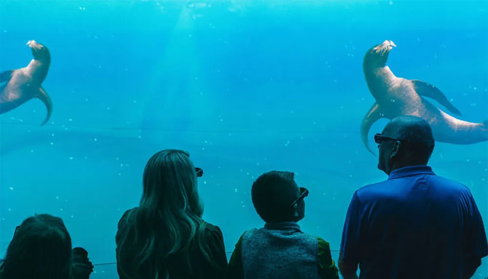
<svg viewBox="0 0 488 279"><path fill-rule="evenodd" d="M359 264L360 279L461 279L464 262L487 254L469 189L414 166L354 193L340 260Z"/></svg>

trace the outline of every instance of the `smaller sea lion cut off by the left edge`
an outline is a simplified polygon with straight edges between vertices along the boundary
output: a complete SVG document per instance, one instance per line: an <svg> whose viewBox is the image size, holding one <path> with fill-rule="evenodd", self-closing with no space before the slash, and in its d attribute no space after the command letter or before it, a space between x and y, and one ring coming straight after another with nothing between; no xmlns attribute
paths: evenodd
<svg viewBox="0 0 488 279"><path fill-rule="evenodd" d="M6 82L0 87L0 114L10 112L32 98L39 98L47 109L42 126L53 112L51 98L41 86L49 71L51 54L47 47L35 40L28 41L27 45L34 56L29 65L0 73L0 82Z"/></svg>

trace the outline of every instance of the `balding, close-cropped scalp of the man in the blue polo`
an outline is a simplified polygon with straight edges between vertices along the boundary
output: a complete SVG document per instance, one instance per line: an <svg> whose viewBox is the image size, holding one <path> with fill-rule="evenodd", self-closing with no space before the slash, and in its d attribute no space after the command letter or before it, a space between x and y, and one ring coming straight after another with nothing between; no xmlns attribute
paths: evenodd
<svg viewBox="0 0 488 279"><path fill-rule="evenodd" d="M417 116L402 115L386 124L383 135L397 139L403 146L406 160L427 164L434 150L434 136L430 125Z"/></svg>

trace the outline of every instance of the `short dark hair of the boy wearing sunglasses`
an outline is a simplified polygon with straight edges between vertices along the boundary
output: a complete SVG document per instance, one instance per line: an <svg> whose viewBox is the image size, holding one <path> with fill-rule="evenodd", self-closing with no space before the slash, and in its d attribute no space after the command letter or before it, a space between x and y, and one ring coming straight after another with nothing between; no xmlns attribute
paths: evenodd
<svg viewBox="0 0 488 279"><path fill-rule="evenodd" d="M258 215L266 223L286 222L287 206L296 198L295 174L272 170L262 174L251 187L251 199Z"/></svg>

